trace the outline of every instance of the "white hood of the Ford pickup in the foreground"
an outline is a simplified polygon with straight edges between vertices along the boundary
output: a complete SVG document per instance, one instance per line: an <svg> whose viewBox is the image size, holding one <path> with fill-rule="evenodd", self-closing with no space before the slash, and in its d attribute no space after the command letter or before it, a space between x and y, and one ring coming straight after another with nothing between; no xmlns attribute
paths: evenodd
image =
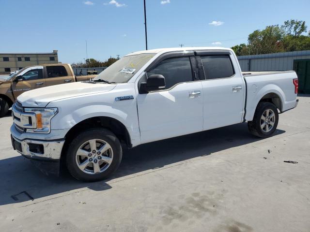
<svg viewBox="0 0 310 232"><path fill-rule="evenodd" d="M107 92L116 85L104 83L74 82L43 87L24 92L17 101L25 107L46 107L49 102L93 93Z"/></svg>

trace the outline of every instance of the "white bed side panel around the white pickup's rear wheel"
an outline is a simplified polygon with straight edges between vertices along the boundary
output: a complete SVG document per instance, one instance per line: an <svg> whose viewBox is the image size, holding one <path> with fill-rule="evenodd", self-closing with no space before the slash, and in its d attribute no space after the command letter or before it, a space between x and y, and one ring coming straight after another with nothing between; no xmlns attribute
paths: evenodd
<svg viewBox="0 0 310 232"><path fill-rule="evenodd" d="M293 79L295 72L252 75L244 77L247 82L246 120L253 119L258 102L268 93L275 93L281 99L280 111L294 108L295 94Z"/></svg>

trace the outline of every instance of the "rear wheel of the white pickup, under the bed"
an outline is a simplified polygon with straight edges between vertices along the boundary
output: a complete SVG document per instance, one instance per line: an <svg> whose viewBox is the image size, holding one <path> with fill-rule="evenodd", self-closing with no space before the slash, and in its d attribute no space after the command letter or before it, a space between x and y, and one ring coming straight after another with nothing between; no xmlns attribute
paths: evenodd
<svg viewBox="0 0 310 232"><path fill-rule="evenodd" d="M267 112L268 116L266 115ZM248 122L248 130L257 137L268 138L276 131L278 122L279 114L277 107L270 102L259 102L253 120Z"/></svg>

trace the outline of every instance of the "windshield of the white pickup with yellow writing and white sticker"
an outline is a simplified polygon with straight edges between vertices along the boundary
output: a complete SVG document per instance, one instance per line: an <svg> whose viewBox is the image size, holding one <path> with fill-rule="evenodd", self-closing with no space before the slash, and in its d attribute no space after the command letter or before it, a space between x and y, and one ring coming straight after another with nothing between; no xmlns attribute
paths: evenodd
<svg viewBox="0 0 310 232"><path fill-rule="evenodd" d="M123 57L102 71L93 80L103 80L109 83L126 83L154 56L155 53L144 53Z"/></svg>

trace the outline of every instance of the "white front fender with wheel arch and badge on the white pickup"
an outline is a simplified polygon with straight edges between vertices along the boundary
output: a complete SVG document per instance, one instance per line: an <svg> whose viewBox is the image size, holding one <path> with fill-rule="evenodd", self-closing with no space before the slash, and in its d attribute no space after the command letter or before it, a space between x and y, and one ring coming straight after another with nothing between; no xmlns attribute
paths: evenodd
<svg viewBox="0 0 310 232"><path fill-rule="evenodd" d="M111 85L76 82L60 86L67 87L74 84L85 85L84 87L87 87L89 94L61 98L48 103L48 108L57 107L59 110L59 113L51 121L53 130L71 129L85 119L106 116L115 118L126 127L132 145L140 144L137 98L133 83ZM92 87L95 92L91 91ZM99 92L96 88L107 89L107 91ZM113 91L111 91L112 89ZM135 96L131 101L115 101L117 97L130 95Z"/></svg>

